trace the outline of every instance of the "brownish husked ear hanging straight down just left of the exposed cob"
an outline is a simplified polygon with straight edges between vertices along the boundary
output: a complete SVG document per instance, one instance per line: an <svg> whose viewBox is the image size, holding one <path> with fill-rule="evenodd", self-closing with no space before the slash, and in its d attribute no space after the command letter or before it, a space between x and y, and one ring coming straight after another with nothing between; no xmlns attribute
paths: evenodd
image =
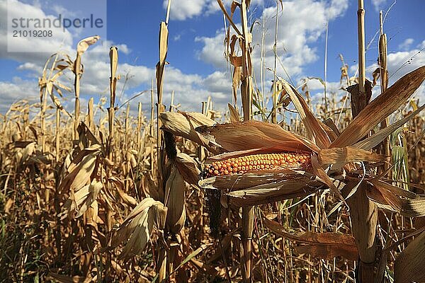
<svg viewBox="0 0 425 283"><path fill-rule="evenodd" d="M186 183L184 183L179 170L174 164L171 164L170 175L165 185L164 204L168 207L166 230L174 234L180 232L186 221L185 189Z"/></svg>

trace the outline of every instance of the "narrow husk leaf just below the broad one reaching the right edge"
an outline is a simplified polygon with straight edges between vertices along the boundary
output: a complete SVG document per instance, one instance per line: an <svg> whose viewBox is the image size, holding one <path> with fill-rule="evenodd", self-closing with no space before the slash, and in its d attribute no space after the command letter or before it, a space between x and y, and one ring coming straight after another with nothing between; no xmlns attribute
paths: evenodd
<svg viewBox="0 0 425 283"><path fill-rule="evenodd" d="M383 141L386 137L392 134L392 132L395 132L396 129L402 127L402 125L409 122L409 120L411 120L414 116L419 114L419 112L424 110L424 108L425 104L422 105L420 108L416 109L414 112L407 115L406 117L404 117L402 120L399 120L388 127L380 129L378 132L375 132L375 134L372 134L370 137L358 141L358 143L353 144L353 147L365 150L373 149L375 146L378 146L378 144L380 144L381 141Z"/></svg>

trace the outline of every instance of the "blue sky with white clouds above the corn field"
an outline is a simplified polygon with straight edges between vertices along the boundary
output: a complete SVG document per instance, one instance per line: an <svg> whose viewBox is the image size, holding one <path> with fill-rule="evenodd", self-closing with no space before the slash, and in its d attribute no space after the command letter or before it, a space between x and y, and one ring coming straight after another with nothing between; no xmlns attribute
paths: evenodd
<svg viewBox="0 0 425 283"><path fill-rule="evenodd" d="M21 3L21 2L20 2ZM48 9L54 1L27 1L32 13L52 13ZM229 4L229 1L225 1ZM253 60L257 83L259 81L261 34L265 26L265 67L273 67L274 13L276 1L252 0L249 14L251 23L257 21L253 30ZM379 10L384 12L393 4L390 0L365 0L366 43L379 27ZM278 55L283 66L278 75L285 77L283 67L295 84L306 76L324 78L324 46L326 23L328 37L328 89L339 88L341 61L344 55L350 67L350 75L356 71L357 59L357 1L284 1L279 13ZM8 7L11 8L11 7ZM18 6L12 8L19 8ZM397 1L385 20L388 38L390 83L408 71L425 64L425 1ZM38 100L38 76L49 54L6 52L6 0L0 0L0 113L6 112L16 100L26 98ZM107 1L107 38L89 47L83 55L85 73L81 82L83 103L93 96L95 101L108 96L108 49L117 45L119 49L118 72L124 79L118 83L118 105L135 93L149 88L154 78L154 67L158 61L159 23L164 21L166 3L163 1ZM235 17L239 23L239 17ZM231 73L223 57L225 37L223 16L215 0L171 0L169 21L169 52L164 82L164 103L169 104L171 91L176 92L176 103L181 110L199 110L200 103L212 96L218 109L224 109L231 101ZM71 40L62 46L74 58L75 46L81 39L70 32ZM50 44L46 42L46 44ZM378 36L366 54L368 77L371 76L378 57ZM410 64L404 64L412 58ZM404 64L404 66L403 66ZM403 66L403 67L402 67ZM399 69L402 67L401 69ZM397 71L396 71L397 70ZM270 71L265 71L264 89L271 86ZM286 78L285 78L286 79ZM72 76L63 82L72 86ZM319 98L323 87L318 81L310 81L312 93ZM415 95L425 100L424 87ZM266 93L270 95L270 93ZM64 93L64 105L72 105L72 93ZM132 110L138 101L149 104L144 95L132 101ZM175 103L175 104L176 104Z"/></svg>

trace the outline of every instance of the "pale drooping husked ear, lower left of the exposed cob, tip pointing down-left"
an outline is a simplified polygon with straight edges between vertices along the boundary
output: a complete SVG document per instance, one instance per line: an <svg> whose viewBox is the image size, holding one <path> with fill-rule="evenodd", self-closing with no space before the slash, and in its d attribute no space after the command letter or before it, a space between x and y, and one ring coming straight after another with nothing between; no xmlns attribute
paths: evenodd
<svg viewBox="0 0 425 283"><path fill-rule="evenodd" d="M115 232L111 241L112 247L125 243L120 258L128 258L131 255L142 253L149 241L154 224L161 219L158 214L164 214L162 213L164 210L166 211L166 207L162 202L150 197L137 204Z"/></svg>

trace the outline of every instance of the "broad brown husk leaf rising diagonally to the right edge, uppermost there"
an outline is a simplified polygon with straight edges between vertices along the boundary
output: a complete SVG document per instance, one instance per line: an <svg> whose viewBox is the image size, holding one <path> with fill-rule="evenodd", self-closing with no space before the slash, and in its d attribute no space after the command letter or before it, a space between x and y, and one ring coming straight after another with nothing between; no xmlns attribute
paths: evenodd
<svg viewBox="0 0 425 283"><path fill-rule="evenodd" d="M355 144L378 123L402 106L425 79L425 66L402 76L386 91L365 106L330 147Z"/></svg>

